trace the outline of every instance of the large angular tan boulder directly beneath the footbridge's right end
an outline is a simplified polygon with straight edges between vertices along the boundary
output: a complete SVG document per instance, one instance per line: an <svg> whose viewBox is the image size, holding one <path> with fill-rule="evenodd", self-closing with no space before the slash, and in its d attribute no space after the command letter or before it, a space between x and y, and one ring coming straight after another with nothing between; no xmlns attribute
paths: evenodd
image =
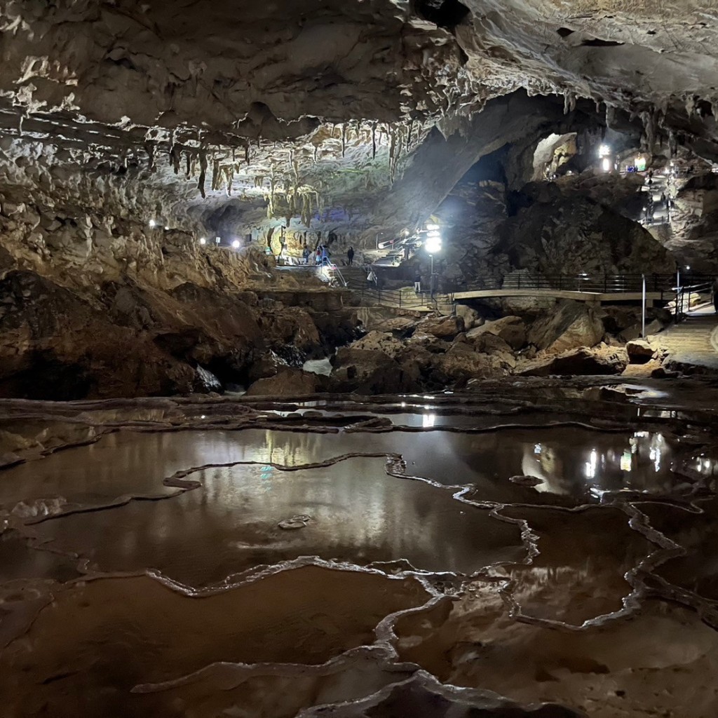
<svg viewBox="0 0 718 718"><path fill-rule="evenodd" d="M583 302L561 302L554 312L533 324L528 341L540 350L561 353L578 347L593 347L605 328L594 309Z"/></svg>

